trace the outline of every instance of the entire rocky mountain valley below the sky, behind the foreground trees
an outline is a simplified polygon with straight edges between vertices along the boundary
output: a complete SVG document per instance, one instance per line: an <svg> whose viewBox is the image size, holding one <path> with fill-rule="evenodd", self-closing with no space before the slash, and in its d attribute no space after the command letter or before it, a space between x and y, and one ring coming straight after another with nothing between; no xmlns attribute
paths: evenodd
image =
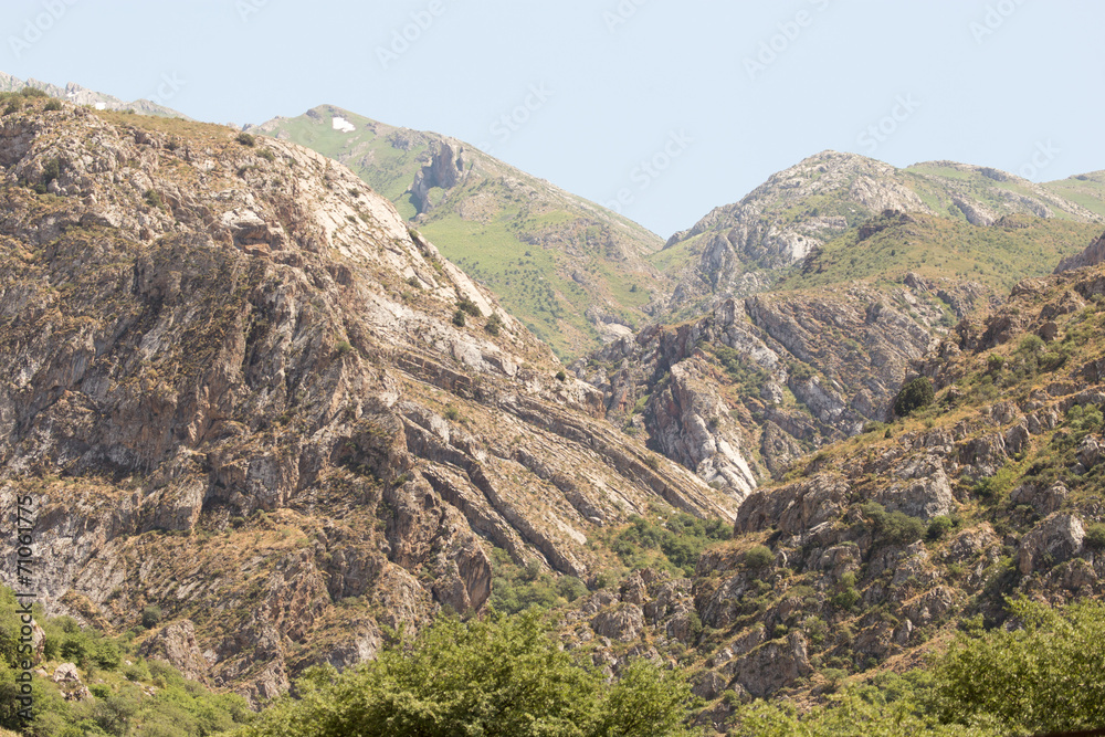
<svg viewBox="0 0 1105 737"><path fill-rule="evenodd" d="M1101 172L823 151L665 243L332 106L240 130L64 94L0 101L29 734L169 701L169 734L285 734L288 692L538 630L683 694L665 734L863 688L934 734L1062 726L925 710L925 666L1105 593Z"/></svg>

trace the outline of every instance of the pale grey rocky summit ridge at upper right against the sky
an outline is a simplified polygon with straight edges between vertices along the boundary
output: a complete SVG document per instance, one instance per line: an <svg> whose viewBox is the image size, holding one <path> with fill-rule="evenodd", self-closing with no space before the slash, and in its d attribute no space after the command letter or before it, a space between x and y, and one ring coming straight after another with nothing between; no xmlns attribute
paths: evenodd
<svg viewBox="0 0 1105 737"><path fill-rule="evenodd" d="M673 235L653 261L685 264L672 309L686 315L713 299L774 286L787 266L886 210L982 228L1018 215L1101 223L1105 190L1091 175L1034 185L989 167L935 161L896 169L823 151L774 175L739 202L715 208ZM919 261L924 249L914 252Z"/></svg>

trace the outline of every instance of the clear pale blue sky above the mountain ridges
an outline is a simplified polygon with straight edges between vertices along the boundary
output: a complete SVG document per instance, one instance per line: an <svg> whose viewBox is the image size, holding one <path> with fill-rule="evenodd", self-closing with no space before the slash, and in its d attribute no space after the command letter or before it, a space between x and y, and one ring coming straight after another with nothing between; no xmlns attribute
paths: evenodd
<svg viewBox="0 0 1105 737"><path fill-rule="evenodd" d="M6 0L3 15L9 74L218 123L329 103L483 145L665 238L829 148L1038 181L1105 169L1097 0Z"/></svg>

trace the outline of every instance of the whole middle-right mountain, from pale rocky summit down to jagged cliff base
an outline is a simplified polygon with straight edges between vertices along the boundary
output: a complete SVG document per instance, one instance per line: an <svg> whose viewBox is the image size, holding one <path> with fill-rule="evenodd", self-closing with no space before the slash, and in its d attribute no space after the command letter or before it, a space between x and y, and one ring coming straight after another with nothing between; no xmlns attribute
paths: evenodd
<svg viewBox="0 0 1105 737"><path fill-rule="evenodd" d="M1064 187L1090 202L1093 181ZM888 420L913 361L1101 221L994 169L823 152L674 235L670 310L572 369L625 432L747 495Z"/></svg>

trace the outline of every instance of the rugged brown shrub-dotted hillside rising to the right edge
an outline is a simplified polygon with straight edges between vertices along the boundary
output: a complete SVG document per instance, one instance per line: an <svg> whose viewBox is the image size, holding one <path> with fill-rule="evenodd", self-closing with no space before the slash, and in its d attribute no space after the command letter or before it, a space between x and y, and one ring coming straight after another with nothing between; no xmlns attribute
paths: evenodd
<svg viewBox="0 0 1105 737"><path fill-rule="evenodd" d="M753 697L808 706L852 682L894 698L887 672L924 666L970 618L1010 621L1006 597L1101 599L1097 251L1092 265L1022 282L911 361L935 401L754 492L733 541L707 549L694 576L642 569L592 594L569 615L571 641L603 662L645 651L691 667L709 702L702 724L724 731ZM649 545L624 539L628 555Z"/></svg>

